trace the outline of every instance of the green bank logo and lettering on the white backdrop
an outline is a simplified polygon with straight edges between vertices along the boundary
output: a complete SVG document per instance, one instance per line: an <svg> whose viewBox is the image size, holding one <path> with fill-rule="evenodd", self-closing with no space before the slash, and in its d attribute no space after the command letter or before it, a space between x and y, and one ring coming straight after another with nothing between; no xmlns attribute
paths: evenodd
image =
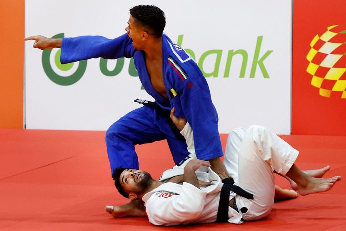
<svg viewBox="0 0 346 231"><path fill-rule="evenodd" d="M63 38L63 37L64 37L64 33L60 33L60 34L54 35L52 38ZM179 46L182 45L183 37L184 37L184 35L178 36L177 45L179 45ZM254 55L253 55L253 60L252 60L252 64L251 64L249 78L255 77L257 66L260 68L261 73L263 75L263 78L269 78L270 77L269 73L268 73L268 71L264 65L264 61L273 52L273 50L267 50L262 56L260 56L262 40L263 40L263 36L257 37L256 48L255 48ZM198 64L199 68L201 69L201 71L203 72L205 77L219 77L221 57L224 53L224 50L217 50L217 49L207 50L200 56L199 60L196 59L196 55L195 55L193 50L191 50L191 49L184 49L184 50L187 53L189 53L191 55L191 57L196 61L196 63ZM52 80L54 83L56 83L58 85L68 86L68 85L72 85L72 84L76 83L78 80L80 80L82 78L82 76L85 73L86 67L87 67L87 61L86 60L79 61L78 67L73 74L71 74L69 76L61 76L58 73L56 73L52 68L52 65L50 62L51 52L52 52L52 50L49 49L49 50L44 50L42 53L43 69L50 80ZM242 57L242 64L241 64L241 68L240 68L239 78L245 78L246 67L248 64L248 52L246 50L239 49L239 50L228 50L228 51L225 51L225 53L227 55L227 59L226 59L225 69L223 71L223 77L224 78L229 77L232 59L235 55L238 55L238 56L240 55ZM73 62L73 63L61 64L60 54L61 54L61 50L58 50L55 54L55 57L54 57L55 67L61 73L71 70L72 67L74 65L76 65L76 63ZM211 58L215 57L215 65L213 66L213 70L211 72L206 72L204 70L204 63L205 63L205 60L207 59L207 57L209 55L211 55ZM208 59L210 60L210 58L208 58ZM103 75L113 77L113 76L118 75L123 70L124 58L118 58L115 67L111 70L108 69L107 62L108 62L107 59L100 58L100 66L99 67L100 67L100 71ZM130 59L128 73L132 77L138 76L138 72L135 68L133 58ZM142 87L142 89L143 89L143 87Z"/></svg>

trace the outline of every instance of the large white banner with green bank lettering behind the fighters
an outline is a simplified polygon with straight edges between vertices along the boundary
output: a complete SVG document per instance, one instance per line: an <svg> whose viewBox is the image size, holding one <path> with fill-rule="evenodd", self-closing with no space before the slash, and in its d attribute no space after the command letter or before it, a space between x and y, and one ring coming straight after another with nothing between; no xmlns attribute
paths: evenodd
<svg viewBox="0 0 346 231"><path fill-rule="evenodd" d="M291 0L27 0L25 34L114 38L138 4L165 12L164 32L203 71L220 133L251 124L290 133ZM62 65L59 49L32 44L25 48L27 128L105 130L140 106L134 99L153 100L132 59Z"/></svg>

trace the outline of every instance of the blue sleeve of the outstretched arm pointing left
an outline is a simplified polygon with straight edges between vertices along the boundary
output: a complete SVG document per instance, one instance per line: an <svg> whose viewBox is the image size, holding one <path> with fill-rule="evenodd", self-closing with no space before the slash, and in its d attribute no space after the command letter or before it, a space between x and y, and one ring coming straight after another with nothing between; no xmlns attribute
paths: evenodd
<svg viewBox="0 0 346 231"><path fill-rule="evenodd" d="M116 59L133 56L132 39L123 34L114 39L102 36L63 38L60 61L62 64L90 58Z"/></svg>

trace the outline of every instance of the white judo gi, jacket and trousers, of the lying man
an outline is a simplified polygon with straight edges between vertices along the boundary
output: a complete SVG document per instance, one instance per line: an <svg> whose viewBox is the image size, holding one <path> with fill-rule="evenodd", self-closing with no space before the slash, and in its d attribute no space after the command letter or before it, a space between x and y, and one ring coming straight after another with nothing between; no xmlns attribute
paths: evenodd
<svg viewBox="0 0 346 231"><path fill-rule="evenodd" d="M163 182L182 175L186 164L196 158L193 131L189 124L186 124L181 134L186 139L190 155L179 165L166 170L160 178ZM274 201L273 170L286 174L297 156L297 150L262 126L253 125L247 130L233 130L228 136L224 163L235 184L253 193L254 199L248 200L231 191L230 199L235 196L238 209L246 207L248 211L242 214L229 207L228 222L240 224L242 218L256 220L267 216ZM223 183L210 168L200 168L196 175L199 180L209 181L212 185L199 189L187 182L182 185L167 182L143 196L152 224L179 225L216 221Z"/></svg>

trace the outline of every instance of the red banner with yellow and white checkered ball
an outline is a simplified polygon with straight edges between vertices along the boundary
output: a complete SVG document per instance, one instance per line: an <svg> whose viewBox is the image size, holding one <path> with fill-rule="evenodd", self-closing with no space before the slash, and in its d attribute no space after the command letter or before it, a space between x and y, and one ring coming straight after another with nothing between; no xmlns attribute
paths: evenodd
<svg viewBox="0 0 346 231"><path fill-rule="evenodd" d="M346 2L294 2L292 133L346 135Z"/></svg>

